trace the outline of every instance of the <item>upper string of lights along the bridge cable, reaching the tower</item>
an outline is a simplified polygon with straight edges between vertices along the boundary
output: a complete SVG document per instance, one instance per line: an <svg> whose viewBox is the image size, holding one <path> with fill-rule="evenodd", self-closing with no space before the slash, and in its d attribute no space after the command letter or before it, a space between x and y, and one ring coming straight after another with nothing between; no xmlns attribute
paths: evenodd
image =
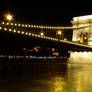
<svg viewBox="0 0 92 92"><path fill-rule="evenodd" d="M80 26L80 27L55 27L55 26L40 26L40 25L29 25L29 24L20 24L20 23L11 23L11 22L2 22L1 25L3 26L15 26L15 27L23 27L23 28L36 28L36 29L53 29L53 30L63 30L63 29L81 29L81 28L85 28L90 26L90 24L88 25L84 25L84 26Z"/></svg>

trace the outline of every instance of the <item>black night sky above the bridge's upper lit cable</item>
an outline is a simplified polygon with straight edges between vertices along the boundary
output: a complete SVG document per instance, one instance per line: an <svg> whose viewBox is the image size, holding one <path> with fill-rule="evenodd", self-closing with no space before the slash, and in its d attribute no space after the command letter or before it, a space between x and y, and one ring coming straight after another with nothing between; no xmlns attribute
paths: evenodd
<svg viewBox="0 0 92 92"><path fill-rule="evenodd" d="M7 11L14 14L16 21L67 26L75 16L92 14L92 6L87 1L5 0L0 3L0 15Z"/></svg>

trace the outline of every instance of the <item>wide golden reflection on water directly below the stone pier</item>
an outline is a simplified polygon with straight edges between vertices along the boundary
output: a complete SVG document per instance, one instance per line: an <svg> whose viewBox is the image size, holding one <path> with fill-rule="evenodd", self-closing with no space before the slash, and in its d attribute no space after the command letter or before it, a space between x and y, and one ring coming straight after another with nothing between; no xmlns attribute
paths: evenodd
<svg viewBox="0 0 92 92"><path fill-rule="evenodd" d="M69 64L68 85L69 92L91 92L92 88L92 65ZM67 91L68 92L68 91Z"/></svg>

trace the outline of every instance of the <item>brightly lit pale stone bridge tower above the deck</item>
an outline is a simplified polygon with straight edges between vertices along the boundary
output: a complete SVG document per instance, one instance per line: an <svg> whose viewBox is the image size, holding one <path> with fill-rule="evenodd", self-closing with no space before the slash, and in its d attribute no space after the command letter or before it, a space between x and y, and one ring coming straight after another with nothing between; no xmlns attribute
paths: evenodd
<svg viewBox="0 0 92 92"><path fill-rule="evenodd" d="M72 41L92 45L92 15L74 17Z"/></svg>

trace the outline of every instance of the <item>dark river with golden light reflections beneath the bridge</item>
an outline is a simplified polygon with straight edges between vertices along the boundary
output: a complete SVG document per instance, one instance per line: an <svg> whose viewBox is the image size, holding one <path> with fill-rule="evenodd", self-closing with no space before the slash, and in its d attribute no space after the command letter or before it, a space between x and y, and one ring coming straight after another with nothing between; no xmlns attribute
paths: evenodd
<svg viewBox="0 0 92 92"><path fill-rule="evenodd" d="M0 64L0 92L92 92L91 64Z"/></svg>

